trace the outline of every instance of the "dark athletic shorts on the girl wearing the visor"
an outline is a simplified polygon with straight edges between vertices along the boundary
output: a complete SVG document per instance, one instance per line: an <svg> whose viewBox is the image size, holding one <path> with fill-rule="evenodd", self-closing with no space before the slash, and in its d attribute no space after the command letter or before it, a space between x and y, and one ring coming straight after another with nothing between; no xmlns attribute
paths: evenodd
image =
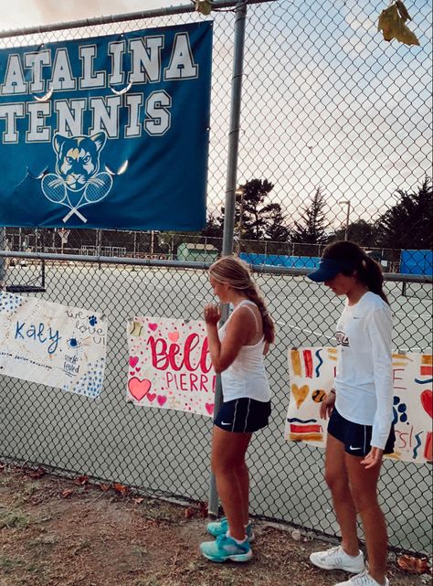
<svg viewBox="0 0 433 586"><path fill-rule="evenodd" d="M372 431L372 425L360 425L359 423L348 421L335 408L333 409L328 423L328 433L343 442L344 451L350 453L351 456L366 456L370 452ZM394 425L391 425L384 453L393 453L395 442L396 433L394 432Z"/></svg>

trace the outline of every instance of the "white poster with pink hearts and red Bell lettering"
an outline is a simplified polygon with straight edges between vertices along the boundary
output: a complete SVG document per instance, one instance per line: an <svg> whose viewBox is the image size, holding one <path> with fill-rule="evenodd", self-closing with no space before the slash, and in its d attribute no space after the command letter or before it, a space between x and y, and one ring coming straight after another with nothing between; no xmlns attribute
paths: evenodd
<svg viewBox="0 0 433 586"><path fill-rule="evenodd" d="M216 375L205 322L134 317L127 324L127 400L211 416Z"/></svg>

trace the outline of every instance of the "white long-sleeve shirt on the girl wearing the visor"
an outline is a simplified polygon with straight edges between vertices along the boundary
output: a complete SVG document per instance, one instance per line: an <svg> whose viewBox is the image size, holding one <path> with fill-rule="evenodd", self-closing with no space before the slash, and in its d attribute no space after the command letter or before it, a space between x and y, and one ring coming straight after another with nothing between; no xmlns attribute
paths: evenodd
<svg viewBox="0 0 433 586"><path fill-rule="evenodd" d="M375 293L346 305L337 324L335 407L344 419L372 425L372 447L384 449L393 416L392 313Z"/></svg>

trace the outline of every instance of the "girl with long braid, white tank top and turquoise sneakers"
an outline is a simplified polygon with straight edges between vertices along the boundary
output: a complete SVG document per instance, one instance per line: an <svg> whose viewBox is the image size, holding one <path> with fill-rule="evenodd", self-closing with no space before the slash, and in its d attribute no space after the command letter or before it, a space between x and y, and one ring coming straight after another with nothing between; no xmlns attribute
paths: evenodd
<svg viewBox="0 0 433 586"><path fill-rule="evenodd" d="M253 432L268 425L270 390L263 357L274 341L274 324L245 262L224 257L210 267L209 280L220 302L233 304L234 310L218 330L219 306L205 307L210 357L223 387L214 420L212 471L226 517L208 524L216 540L200 549L211 561L248 561L254 536L245 454Z"/></svg>

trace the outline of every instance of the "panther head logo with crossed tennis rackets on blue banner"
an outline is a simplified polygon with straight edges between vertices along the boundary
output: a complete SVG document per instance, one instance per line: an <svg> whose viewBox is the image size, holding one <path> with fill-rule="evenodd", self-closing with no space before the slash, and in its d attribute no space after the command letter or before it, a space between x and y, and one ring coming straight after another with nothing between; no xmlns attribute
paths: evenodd
<svg viewBox="0 0 433 586"><path fill-rule="evenodd" d="M72 137L55 134L56 173L43 176L41 187L49 201L69 208L63 222L75 214L86 223L87 218L79 208L95 204L109 194L111 175L100 172L100 151L106 142L107 135L103 132Z"/></svg>

